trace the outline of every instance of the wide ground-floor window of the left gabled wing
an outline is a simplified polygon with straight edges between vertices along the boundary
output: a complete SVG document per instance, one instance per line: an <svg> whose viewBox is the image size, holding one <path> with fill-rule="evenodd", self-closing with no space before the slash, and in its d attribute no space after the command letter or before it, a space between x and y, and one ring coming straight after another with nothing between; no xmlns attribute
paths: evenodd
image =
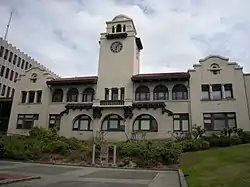
<svg viewBox="0 0 250 187"><path fill-rule="evenodd" d="M17 129L29 130L34 126L34 120L38 120L39 114L18 114Z"/></svg>

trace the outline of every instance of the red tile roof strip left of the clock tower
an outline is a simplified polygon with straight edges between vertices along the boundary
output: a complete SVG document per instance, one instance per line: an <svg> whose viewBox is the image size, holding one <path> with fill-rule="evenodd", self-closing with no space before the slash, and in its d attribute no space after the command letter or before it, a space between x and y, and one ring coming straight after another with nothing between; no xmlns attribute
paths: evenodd
<svg viewBox="0 0 250 187"><path fill-rule="evenodd" d="M98 80L97 76L86 77L67 77L58 78L55 80L47 81L48 85L63 85L63 84L96 84Z"/></svg>

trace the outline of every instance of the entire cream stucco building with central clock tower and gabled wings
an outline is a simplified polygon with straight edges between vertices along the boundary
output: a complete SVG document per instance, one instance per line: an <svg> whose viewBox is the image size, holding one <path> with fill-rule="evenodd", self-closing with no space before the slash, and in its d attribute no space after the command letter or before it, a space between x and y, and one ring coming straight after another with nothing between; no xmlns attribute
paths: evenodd
<svg viewBox="0 0 250 187"><path fill-rule="evenodd" d="M134 132L165 139L195 124L250 131L250 76L237 63L208 56L187 72L139 74L143 46L133 20L118 15L106 25L97 76L58 78L33 67L17 80L8 134L56 126L66 137L89 140L104 131L115 141Z"/></svg>

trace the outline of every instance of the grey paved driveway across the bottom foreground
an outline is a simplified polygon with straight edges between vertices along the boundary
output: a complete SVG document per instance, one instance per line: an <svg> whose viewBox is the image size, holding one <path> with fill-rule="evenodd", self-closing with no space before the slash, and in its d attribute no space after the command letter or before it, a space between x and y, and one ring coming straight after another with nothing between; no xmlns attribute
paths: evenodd
<svg viewBox="0 0 250 187"><path fill-rule="evenodd" d="M4 184L8 187L186 187L178 171L56 166L0 161L0 174L22 174L34 180ZM37 179L39 178L40 179ZM0 179L0 184L5 180Z"/></svg>

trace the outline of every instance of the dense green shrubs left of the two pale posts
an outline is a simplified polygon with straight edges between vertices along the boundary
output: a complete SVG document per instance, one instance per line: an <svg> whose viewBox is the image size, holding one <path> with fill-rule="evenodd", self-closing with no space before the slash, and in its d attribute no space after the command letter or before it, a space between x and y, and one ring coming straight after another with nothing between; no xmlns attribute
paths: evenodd
<svg viewBox="0 0 250 187"><path fill-rule="evenodd" d="M17 160L33 160L40 158L43 153L69 157L78 153L77 155L81 154L81 157L85 157L92 150L89 144L76 138L59 136L56 129L46 130L34 127L29 133L30 136L1 137L0 146L3 146L2 157Z"/></svg>

